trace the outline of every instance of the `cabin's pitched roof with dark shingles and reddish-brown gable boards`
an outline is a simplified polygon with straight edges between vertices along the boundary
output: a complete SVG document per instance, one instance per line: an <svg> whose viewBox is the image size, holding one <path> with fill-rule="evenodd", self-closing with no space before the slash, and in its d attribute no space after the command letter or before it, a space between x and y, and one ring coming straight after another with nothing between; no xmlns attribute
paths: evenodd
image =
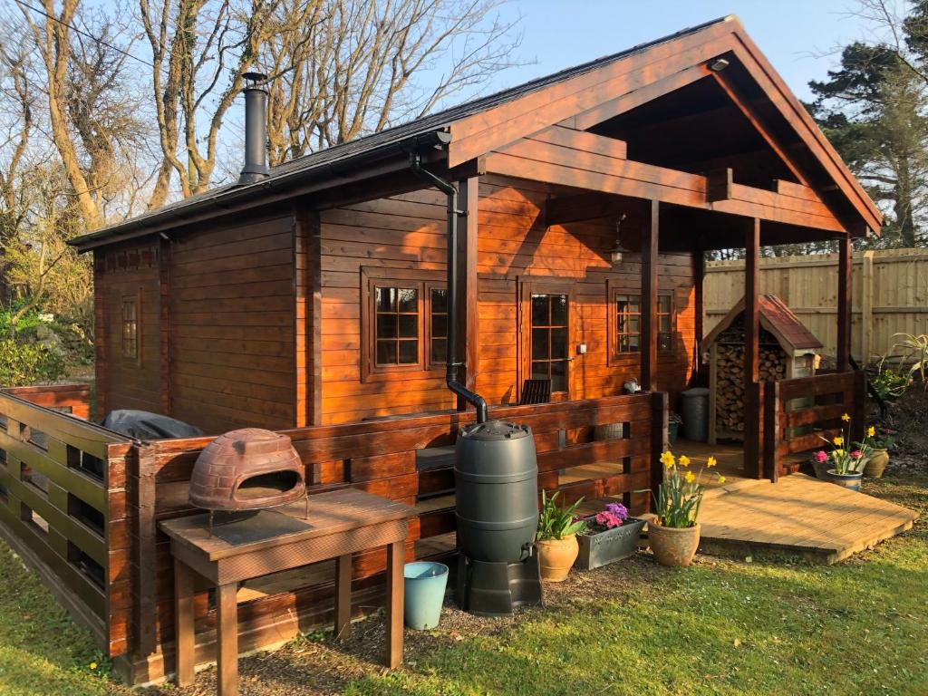
<svg viewBox="0 0 928 696"><path fill-rule="evenodd" d="M810 142L818 143L824 156L831 162L835 170L835 185L839 187L851 200L854 207L860 212L868 225L878 228L880 213L875 204L867 197L857 180L847 170L844 162L837 155L825 136L806 114L805 109L793 97L792 93L782 84L779 76L769 67L766 59L756 49L753 42L741 27L741 22L732 16L714 19L695 27L669 34L655 41L633 46L619 53L591 60L582 65L567 70L555 72L546 77L538 78L516 87L502 90L488 97L481 97L456 107L424 116L416 121L388 128L380 133L356 138L340 145L319 150L292 161L287 161L273 167L270 175L253 184L241 185L238 183L215 187L209 191L161 208L143 213L130 220L108 226L79 238L72 239L72 245L81 251L93 249L111 241L122 238L131 238L140 234L148 234L164 230L171 226L181 226L190 222L194 215L200 216L204 212L213 211L214 214L226 213L230 208L238 206L251 206L260 204L262 200L270 200L295 195L298 187L308 182L322 182L331 180L332 186L338 185L337 174L349 172L358 167L366 166L370 162L385 160L390 157L402 155L404 144L414 141L423 135L436 131L449 131L452 142L448 149L448 166L456 166L471 157L479 156L489 151L491 147L475 145L475 136L485 135L488 132L499 137L509 137L512 142L523 135L531 135L538 130L558 122L565 115L572 115L570 109L577 110L577 106L569 107L560 104L560 109L551 108L552 90L561 93L574 94L585 84L599 84L598 73L607 69L619 70L625 62L632 58L653 55L660 70L672 71L672 61L661 60L661 56L672 54L677 58L690 55L681 50L687 45L705 45L712 55L717 56L727 50L732 51L742 60L756 63L759 70L766 76L767 81L773 82L773 89L780 95L779 101L774 100L778 107L798 110L798 119L804 122L806 138ZM715 52L715 53L713 53ZM691 52L690 52L691 53ZM694 54L693 65L701 64L705 58L702 54ZM702 58L700 58L702 57ZM690 65L692 67L692 65ZM680 68L678 68L680 69ZM682 70L682 69L680 69ZM651 71L653 73L654 71ZM646 87L660 74L650 74L649 80L638 81L637 89ZM574 92L572 92L574 90ZM608 89L600 89L599 96L591 98L604 100L615 98L617 95ZM544 109L538 105L544 104ZM567 111L564 111L567 109ZM506 127L501 128L496 118L505 116L507 111L518 112L516 119L509 119ZM491 140L491 143L493 141ZM497 143L498 144L498 143ZM503 143L504 144L504 143ZM469 149L470 148L470 149ZM483 148L483 149L480 149ZM470 156L468 156L470 153Z"/></svg>

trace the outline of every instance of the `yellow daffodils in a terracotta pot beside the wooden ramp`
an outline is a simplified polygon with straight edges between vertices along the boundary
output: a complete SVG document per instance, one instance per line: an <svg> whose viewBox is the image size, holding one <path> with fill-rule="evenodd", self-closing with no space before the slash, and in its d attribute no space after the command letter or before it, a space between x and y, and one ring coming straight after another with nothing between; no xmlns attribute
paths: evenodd
<svg viewBox="0 0 928 696"><path fill-rule="evenodd" d="M690 458L679 459L671 451L661 455L664 464L664 481L654 495L654 511L657 519L648 525L648 539L654 558L661 565L690 565L699 548L699 509L702 505L702 470L712 469L715 457L706 461L698 474L690 470ZM725 477L716 473L719 483Z"/></svg>

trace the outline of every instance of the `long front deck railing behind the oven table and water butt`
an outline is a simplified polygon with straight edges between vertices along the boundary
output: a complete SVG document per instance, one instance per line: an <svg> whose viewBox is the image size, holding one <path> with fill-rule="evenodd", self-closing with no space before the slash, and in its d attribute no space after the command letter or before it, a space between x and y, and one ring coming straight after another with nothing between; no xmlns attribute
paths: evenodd
<svg viewBox="0 0 928 696"><path fill-rule="evenodd" d="M533 429L540 486L561 489L568 499L622 496L633 510L648 506L658 461L666 443L666 394L639 394L603 399L505 406L493 419L525 423ZM415 506L410 520L407 556L434 557L439 538L455 531L454 477L451 462L419 470L419 450L453 445L458 430L473 422L470 413L371 420L346 425L285 431L306 467L311 493L354 486ZM595 439L597 426L623 424L619 439ZM167 539L157 522L195 510L187 502L193 465L210 437L165 440L139 447L137 476L130 479L130 517L135 520L133 596L137 607L135 650L120 665L134 682L161 677L174 661L174 586ZM432 450L434 451L434 450ZM566 483L565 483L566 482ZM444 545L453 552L454 542ZM353 563L354 607L380 602L382 551L356 554ZM321 569L324 570L324 569ZM301 579L302 577L302 579ZM238 613L239 647L246 651L276 642L327 618L332 584L328 572L276 583L256 592ZM281 589L286 586L285 589ZM254 590L252 590L254 591ZM203 632L213 624L205 593L197 600L198 650L212 640ZM200 653L207 659L210 649Z"/></svg>

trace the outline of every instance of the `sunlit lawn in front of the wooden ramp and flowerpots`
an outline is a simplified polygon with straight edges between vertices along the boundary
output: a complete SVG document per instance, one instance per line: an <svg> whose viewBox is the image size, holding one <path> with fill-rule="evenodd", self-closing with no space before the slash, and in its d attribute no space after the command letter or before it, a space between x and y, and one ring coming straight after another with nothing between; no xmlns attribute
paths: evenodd
<svg viewBox="0 0 928 696"><path fill-rule="evenodd" d="M928 511L928 479L875 485ZM928 693L923 522L836 566L703 559L642 582L643 563L610 566L585 597L436 645L345 693Z"/></svg>

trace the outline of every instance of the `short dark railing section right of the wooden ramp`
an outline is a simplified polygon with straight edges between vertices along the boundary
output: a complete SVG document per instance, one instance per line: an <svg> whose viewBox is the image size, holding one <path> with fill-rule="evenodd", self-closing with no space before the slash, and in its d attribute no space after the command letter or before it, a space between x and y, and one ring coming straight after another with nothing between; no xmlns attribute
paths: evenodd
<svg viewBox="0 0 928 696"><path fill-rule="evenodd" d="M764 404L764 475L776 480L782 458L818 449L851 417L852 436L864 427L866 376L861 371L821 374L758 385Z"/></svg>

